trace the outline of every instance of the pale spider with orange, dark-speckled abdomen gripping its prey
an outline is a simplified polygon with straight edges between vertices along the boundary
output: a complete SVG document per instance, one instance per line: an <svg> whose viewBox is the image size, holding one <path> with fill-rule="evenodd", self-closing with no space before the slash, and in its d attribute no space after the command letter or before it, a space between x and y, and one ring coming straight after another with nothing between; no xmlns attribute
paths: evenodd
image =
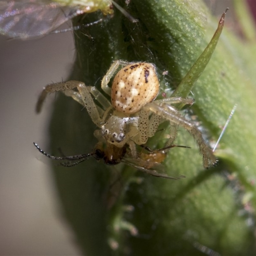
<svg viewBox="0 0 256 256"><path fill-rule="evenodd" d="M115 75L119 66L124 66ZM114 76L112 87L108 83ZM74 89L77 89L74 90ZM159 93L156 68L152 63L116 60L101 82L101 89L111 97L111 102L94 86L83 82L67 81L44 87L36 106L39 113L48 93L62 91L84 106L94 124L100 129L94 132L100 143L124 148L129 145L133 158L137 157L136 145L143 145L154 136L160 123L169 121L173 126L166 146L177 136L177 127L185 128L196 140L203 156L204 167L216 162L212 149L195 124L182 116L174 103L193 104L193 100L171 97L155 100ZM94 103L93 98L100 106Z"/></svg>

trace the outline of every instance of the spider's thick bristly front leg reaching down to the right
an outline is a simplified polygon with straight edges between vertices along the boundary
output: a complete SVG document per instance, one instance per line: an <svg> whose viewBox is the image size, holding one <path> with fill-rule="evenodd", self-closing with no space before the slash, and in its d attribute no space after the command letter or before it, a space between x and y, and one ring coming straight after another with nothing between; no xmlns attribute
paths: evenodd
<svg viewBox="0 0 256 256"><path fill-rule="evenodd" d="M176 108L167 104L158 105L155 102L146 104L144 108L148 111L152 111L153 113L161 116L166 120L169 120L175 125L180 125L184 127L191 135L193 135L194 139L197 142L197 145L200 148L200 152L203 155L203 163L205 168L208 168L216 163L216 158L213 155L212 149L209 148L208 145L205 143L202 133L193 123L183 117Z"/></svg>

